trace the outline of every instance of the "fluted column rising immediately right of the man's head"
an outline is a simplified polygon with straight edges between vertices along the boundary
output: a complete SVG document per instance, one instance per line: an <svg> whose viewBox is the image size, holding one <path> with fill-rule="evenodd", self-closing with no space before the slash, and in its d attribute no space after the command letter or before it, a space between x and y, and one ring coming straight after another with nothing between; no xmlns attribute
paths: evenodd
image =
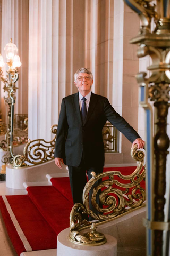
<svg viewBox="0 0 170 256"><path fill-rule="evenodd" d="M92 91L112 101L114 1L86 0L85 66L94 76Z"/></svg>

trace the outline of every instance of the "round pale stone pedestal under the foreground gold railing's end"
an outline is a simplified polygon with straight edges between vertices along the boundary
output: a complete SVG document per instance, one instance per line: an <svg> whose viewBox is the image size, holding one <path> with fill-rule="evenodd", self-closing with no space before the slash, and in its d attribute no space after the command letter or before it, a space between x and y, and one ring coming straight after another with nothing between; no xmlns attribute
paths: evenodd
<svg viewBox="0 0 170 256"><path fill-rule="evenodd" d="M69 241L69 228L64 229L57 237L57 256L116 256L117 240L105 235L107 242L98 246L77 245Z"/></svg>

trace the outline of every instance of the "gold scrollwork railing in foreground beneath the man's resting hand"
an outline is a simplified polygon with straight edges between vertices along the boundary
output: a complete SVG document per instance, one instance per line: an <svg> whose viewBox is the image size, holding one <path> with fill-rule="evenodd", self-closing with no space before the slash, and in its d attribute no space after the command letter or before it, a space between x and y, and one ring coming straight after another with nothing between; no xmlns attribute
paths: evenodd
<svg viewBox="0 0 170 256"><path fill-rule="evenodd" d="M82 220L82 213L99 221L108 221L143 204L146 193L140 183L145 178L145 167L143 167L145 153L138 150L137 145L134 145L131 149L131 156L138 161L138 166L132 174L123 175L120 171L103 172L98 175L95 172L91 173L92 178L83 190L83 205L74 204L70 213L69 239L71 242L81 245L99 245L106 242L103 234L96 233L94 225L91 227L91 233L85 235L80 233L83 225L89 227L92 224L92 222ZM95 186L96 181L100 181L97 186ZM89 208L89 191L91 189L93 191L90 200L98 213ZM99 200L104 205L103 207L96 202L97 193L99 193Z"/></svg>

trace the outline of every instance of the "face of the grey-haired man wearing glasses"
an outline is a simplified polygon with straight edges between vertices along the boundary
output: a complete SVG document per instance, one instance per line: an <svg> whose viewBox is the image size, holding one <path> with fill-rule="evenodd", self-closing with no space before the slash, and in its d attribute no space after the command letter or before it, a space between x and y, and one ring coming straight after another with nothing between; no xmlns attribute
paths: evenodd
<svg viewBox="0 0 170 256"><path fill-rule="evenodd" d="M83 79L79 80L80 77L83 77ZM90 77L90 79L89 79L89 77ZM83 96L86 96L90 92L91 85L93 83L94 83L94 81L92 80L91 76L87 73L79 73L78 76L77 76L77 79L74 82L75 86L77 86L79 92Z"/></svg>

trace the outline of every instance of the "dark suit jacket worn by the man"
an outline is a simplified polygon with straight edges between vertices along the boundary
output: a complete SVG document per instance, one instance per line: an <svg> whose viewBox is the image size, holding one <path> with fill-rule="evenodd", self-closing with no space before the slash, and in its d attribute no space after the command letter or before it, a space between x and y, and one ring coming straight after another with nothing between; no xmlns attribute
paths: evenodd
<svg viewBox="0 0 170 256"><path fill-rule="evenodd" d="M140 138L132 126L114 110L107 98L91 93L83 125L79 93L65 97L58 121L54 156L63 158L64 163L70 166L79 166L82 155L87 166L104 166L102 129L107 120L131 142Z"/></svg>

